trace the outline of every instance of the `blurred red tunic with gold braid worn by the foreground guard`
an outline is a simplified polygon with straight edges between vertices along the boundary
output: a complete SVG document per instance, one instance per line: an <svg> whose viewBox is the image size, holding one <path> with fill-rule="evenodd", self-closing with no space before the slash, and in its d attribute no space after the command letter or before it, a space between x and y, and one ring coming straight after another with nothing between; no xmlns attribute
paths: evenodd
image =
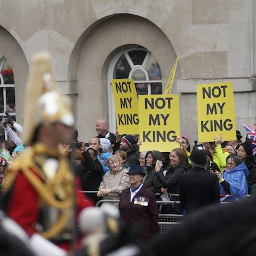
<svg viewBox="0 0 256 256"><path fill-rule="evenodd" d="M50 169L56 169L55 173L52 174L53 170ZM38 232L68 250L73 230L66 230L67 225L74 229L74 209L77 215L81 209L93 206L93 203L79 192L78 182L74 182L66 156L45 145L36 144L15 159L8 172L4 184L5 192L9 194L7 215L30 236ZM57 214L55 221L48 226L43 223L52 216L42 214L44 210Z"/></svg>

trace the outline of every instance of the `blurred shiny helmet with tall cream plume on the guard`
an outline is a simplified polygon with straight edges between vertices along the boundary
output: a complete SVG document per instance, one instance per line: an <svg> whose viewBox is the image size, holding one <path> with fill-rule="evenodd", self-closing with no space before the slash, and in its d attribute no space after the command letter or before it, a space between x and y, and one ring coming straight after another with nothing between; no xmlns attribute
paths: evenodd
<svg viewBox="0 0 256 256"><path fill-rule="evenodd" d="M34 54L26 87L23 143L31 145L39 124L74 125L71 98L55 89L49 52Z"/></svg>

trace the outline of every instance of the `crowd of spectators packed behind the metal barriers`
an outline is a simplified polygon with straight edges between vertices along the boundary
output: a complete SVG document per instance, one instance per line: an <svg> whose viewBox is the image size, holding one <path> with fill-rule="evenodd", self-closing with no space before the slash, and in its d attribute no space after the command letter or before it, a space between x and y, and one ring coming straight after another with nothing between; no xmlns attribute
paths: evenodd
<svg viewBox="0 0 256 256"><path fill-rule="evenodd" d="M12 164L17 154L27 148L17 132L23 132L23 128L7 112L1 124L9 136L9 142L2 142L1 157L6 165ZM138 135L119 135L118 131L113 134L108 131L105 119L96 122L95 131L97 135L91 137L89 143L79 142L78 131L74 130L73 141L59 144L60 150L70 158L82 190L87 191L87 196L95 204L100 199L119 199L121 191L130 187L127 172L131 166L138 165L145 174L143 185L156 194L156 199L163 200L159 212L185 214L183 202L171 205L164 204L164 201L180 201L182 175L193 169L191 141L187 135L177 138L178 147L171 152L140 152L142 142ZM238 130L236 135L237 140L234 141L223 142L221 135L215 135L212 142L193 145L193 148L206 152L207 166L204 169L217 177L221 201L243 198L250 194L256 183L256 164L251 141L246 138L242 142ZM161 198L161 195L164 196Z"/></svg>

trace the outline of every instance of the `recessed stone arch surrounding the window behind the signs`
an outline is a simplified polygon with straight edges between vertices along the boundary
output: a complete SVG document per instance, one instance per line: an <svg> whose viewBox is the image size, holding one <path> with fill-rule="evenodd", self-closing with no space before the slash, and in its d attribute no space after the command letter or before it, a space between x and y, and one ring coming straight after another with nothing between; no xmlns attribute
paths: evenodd
<svg viewBox="0 0 256 256"><path fill-rule="evenodd" d="M156 25L135 15L119 14L98 21L79 39L71 56L68 73L76 72L79 138L95 135L97 119L108 119L107 73L111 58L127 44L145 47L158 59L166 84L177 57L172 44ZM179 73L179 70L177 70ZM163 86L164 89L165 86ZM88 113L89 111L89 113Z"/></svg>

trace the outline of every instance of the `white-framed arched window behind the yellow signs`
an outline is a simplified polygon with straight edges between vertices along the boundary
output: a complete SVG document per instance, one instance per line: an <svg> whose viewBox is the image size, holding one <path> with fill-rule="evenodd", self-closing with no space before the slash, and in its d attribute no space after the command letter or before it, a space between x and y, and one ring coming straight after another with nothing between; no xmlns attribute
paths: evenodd
<svg viewBox="0 0 256 256"><path fill-rule="evenodd" d="M162 94L162 75L158 61L151 52L141 46L120 50L114 55L108 69L108 115L110 130L116 130L111 79L132 78L137 94Z"/></svg>

